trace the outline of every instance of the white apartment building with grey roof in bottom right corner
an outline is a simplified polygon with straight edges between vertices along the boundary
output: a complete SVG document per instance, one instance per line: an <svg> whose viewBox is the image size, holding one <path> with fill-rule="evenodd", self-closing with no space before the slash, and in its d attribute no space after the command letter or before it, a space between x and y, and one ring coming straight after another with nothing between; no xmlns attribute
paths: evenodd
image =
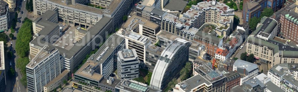
<svg viewBox="0 0 298 92"><path fill-rule="evenodd" d="M283 89L285 92L298 91L298 82L294 76L297 76L293 71L297 71L298 64L277 64L268 71L268 77L271 82Z"/></svg>

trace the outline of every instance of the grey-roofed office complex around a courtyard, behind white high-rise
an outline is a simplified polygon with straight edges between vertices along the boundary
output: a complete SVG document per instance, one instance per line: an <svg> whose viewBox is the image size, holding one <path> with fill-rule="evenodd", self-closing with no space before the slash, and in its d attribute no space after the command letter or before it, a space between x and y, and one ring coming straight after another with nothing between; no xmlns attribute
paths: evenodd
<svg viewBox="0 0 298 92"><path fill-rule="evenodd" d="M48 41L44 40L45 36L49 36L47 33L50 33L51 30L41 30L38 33L44 34L34 35L33 40L29 43L30 56L34 57L35 54L41 51L41 49L45 45L53 46L60 52L60 60L63 61L64 69L69 70L71 71L71 73L73 73L75 67L77 67L77 65L79 65L83 61L83 59L86 58L86 55L89 54L92 49L95 49L96 46L99 46L101 42L103 42L106 39L108 33L114 31L114 29L111 29L111 23L111 17L103 17L96 23L96 25L91 26L87 29L59 25L59 27L62 27L63 29L63 31L61 32L62 35L60 35L59 38L56 39L56 41L54 41L53 43L49 43ZM86 33L85 36L76 37L79 36L75 35L76 30ZM89 35L94 36L89 37ZM79 38L79 41L77 41L75 38Z"/></svg>

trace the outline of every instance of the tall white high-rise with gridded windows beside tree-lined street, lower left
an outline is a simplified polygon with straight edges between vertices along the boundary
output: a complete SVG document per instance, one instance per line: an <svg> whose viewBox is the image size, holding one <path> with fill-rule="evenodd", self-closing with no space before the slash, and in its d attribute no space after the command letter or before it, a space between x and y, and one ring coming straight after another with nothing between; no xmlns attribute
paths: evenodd
<svg viewBox="0 0 298 92"><path fill-rule="evenodd" d="M62 70L58 49L44 46L26 66L28 92L44 91L44 85L54 80Z"/></svg>

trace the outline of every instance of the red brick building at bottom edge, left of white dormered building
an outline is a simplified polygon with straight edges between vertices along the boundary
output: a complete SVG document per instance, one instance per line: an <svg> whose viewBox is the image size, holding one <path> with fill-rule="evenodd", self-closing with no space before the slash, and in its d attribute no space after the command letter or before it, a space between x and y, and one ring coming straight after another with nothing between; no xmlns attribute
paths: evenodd
<svg viewBox="0 0 298 92"><path fill-rule="evenodd" d="M226 92L229 92L234 86L240 85L240 74L236 71L230 71L226 76Z"/></svg>

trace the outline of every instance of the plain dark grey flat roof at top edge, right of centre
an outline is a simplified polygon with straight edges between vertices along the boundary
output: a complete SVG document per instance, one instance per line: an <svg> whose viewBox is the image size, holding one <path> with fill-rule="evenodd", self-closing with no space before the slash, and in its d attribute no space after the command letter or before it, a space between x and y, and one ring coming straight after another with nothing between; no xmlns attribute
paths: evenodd
<svg viewBox="0 0 298 92"><path fill-rule="evenodd" d="M164 9L183 11L186 5L187 2L184 0L170 0Z"/></svg>

